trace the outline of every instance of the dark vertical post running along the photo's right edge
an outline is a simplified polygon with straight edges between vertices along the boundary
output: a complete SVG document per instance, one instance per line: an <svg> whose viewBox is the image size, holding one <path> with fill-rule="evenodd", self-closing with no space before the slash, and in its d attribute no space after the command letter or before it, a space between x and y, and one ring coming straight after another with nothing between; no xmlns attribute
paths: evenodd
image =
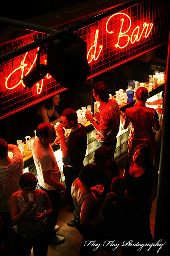
<svg viewBox="0 0 170 256"><path fill-rule="evenodd" d="M154 230L154 242L164 244L168 241L169 226L170 226L170 36L167 53L167 69L166 69L166 83L165 83L165 99L164 99L164 116L163 116L163 130L161 137L161 155L159 164L159 183L156 203L156 219ZM158 247L154 247L157 255ZM167 255L169 250L169 241L164 244L159 251L159 255Z"/></svg>

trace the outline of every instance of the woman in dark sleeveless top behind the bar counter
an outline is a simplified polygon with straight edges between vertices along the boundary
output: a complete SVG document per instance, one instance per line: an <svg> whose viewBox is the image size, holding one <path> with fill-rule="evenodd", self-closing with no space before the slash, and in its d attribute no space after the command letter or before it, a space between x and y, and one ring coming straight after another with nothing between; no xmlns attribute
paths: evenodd
<svg viewBox="0 0 170 256"><path fill-rule="evenodd" d="M43 104L37 109L37 126L42 122L50 122L55 125L56 122L61 121L61 117L56 110L57 105L59 105L59 94L56 94L43 102Z"/></svg>

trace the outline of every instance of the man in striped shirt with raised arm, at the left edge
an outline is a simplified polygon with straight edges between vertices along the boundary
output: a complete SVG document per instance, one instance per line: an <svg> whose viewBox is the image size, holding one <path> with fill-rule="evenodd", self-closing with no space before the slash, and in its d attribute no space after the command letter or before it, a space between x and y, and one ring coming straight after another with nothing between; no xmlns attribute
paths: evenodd
<svg viewBox="0 0 170 256"><path fill-rule="evenodd" d="M13 157L8 157L8 151ZM17 145L0 139L0 216L3 220L3 236L6 253L14 254L13 227L10 212L10 197L20 190L19 179L23 174L23 157Z"/></svg>

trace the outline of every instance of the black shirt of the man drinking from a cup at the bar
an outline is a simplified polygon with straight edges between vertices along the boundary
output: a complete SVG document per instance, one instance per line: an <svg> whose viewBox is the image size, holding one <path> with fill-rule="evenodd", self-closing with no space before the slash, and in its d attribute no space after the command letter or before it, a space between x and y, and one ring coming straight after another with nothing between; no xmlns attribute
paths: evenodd
<svg viewBox="0 0 170 256"><path fill-rule="evenodd" d="M87 148L87 132L84 125L80 125L81 127L76 131L71 131L66 142L69 156L62 158L64 164L74 167L83 167L83 160Z"/></svg>

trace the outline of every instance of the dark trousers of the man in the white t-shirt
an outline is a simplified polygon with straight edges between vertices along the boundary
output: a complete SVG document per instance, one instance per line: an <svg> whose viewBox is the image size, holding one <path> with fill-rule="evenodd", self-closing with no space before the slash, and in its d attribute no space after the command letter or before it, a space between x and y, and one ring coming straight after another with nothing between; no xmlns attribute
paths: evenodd
<svg viewBox="0 0 170 256"><path fill-rule="evenodd" d="M61 204L61 197L59 194L59 189L47 190L47 189L42 188L40 185L38 185L38 189L42 189L47 193L48 198L51 203L51 206L52 206L52 210L53 210L52 213L50 215L48 215L47 217L45 217L45 222L46 222L46 225L50 232L50 241L52 241L56 235L54 227L57 223L58 209Z"/></svg>

